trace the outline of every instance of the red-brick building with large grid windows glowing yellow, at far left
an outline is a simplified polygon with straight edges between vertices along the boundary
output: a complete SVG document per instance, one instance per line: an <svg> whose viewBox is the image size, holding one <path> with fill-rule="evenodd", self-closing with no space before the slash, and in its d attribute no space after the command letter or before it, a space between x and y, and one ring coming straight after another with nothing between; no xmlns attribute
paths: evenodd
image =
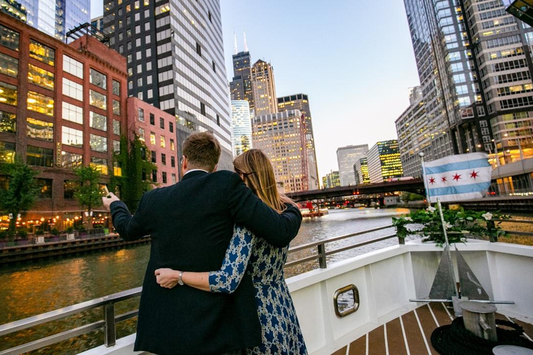
<svg viewBox="0 0 533 355"><path fill-rule="evenodd" d="M95 38L67 45L0 13L0 162L17 155L40 171L23 221L61 230L81 217L72 170L95 166L107 182L126 132L126 85L126 58Z"/></svg>

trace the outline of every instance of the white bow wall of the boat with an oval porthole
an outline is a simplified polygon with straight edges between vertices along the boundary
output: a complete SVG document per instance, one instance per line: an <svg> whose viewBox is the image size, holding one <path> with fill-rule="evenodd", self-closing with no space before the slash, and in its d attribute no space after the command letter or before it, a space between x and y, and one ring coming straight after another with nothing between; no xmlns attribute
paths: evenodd
<svg viewBox="0 0 533 355"><path fill-rule="evenodd" d="M498 313L532 323L533 247L475 240L457 247L491 300L516 303L496 305ZM420 306L409 298L428 296L441 250L433 243L412 241L287 279L310 354L331 354ZM337 318L333 295L350 284L359 289L359 309ZM134 340L135 334L117 340L115 347L83 355L139 354L133 352Z"/></svg>

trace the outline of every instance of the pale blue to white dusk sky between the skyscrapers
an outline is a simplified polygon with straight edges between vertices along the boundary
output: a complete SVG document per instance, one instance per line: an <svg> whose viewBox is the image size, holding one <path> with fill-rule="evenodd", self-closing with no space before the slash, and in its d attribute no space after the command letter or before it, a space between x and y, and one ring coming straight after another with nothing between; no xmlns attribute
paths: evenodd
<svg viewBox="0 0 533 355"><path fill-rule="evenodd" d="M102 13L91 1L91 15ZM231 80L234 36L252 62L271 62L278 97L309 96L319 177L338 170L337 148L396 139L418 73L402 0L221 0Z"/></svg>

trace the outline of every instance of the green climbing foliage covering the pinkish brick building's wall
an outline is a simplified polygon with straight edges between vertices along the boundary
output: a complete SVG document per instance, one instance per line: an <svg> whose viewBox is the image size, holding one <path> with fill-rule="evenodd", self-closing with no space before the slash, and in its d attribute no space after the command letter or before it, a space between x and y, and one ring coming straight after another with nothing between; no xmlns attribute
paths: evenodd
<svg viewBox="0 0 533 355"><path fill-rule="evenodd" d="M149 179L151 171L157 170L157 166L152 164L149 158L150 151L146 144L137 135L128 142L126 136L120 139L120 153L115 155L115 159L122 168L122 176L113 176L110 183L110 191L115 191L117 184L121 186L121 200L126 203L130 211L135 211L142 194L153 187L153 182ZM143 171L146 179L143 180Z"/></svg>

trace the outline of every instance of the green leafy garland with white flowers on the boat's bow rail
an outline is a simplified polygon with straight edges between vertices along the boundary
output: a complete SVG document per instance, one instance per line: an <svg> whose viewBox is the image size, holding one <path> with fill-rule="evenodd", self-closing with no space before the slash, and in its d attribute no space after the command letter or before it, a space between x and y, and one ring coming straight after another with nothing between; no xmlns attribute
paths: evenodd
<svg viewBox="0 0 533 355"><path fill-rule="evenodd" d="M442 210L444 227L450 243L464 243L468 234L474 236L488 236L491 241L497 241L498 236L504 236L505 231L500 227L500 222L494 219L506 219L509 216L500 214L500 211L466 211L458 209ZM423 242L434 241L437 246L445 243L442 221L439 211L434 207L411 211L407 216L392 218L392 225L396 228L396 235L404 239L409 234L422 234ZM409 225L409 227L407 227Z"/></svg>

